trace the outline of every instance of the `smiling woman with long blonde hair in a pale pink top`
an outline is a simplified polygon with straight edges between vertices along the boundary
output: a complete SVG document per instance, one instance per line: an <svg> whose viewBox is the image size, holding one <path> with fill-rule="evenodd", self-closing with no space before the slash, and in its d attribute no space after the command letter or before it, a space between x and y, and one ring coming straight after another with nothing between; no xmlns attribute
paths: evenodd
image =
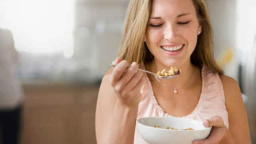
<svg viewBox="0 0 256 144"><path fill-rule="evenodd" d="M147 116L192 118L213 126L206 140L194 144L251 143L239 86L214 60L204 0L131 0L113 63L98 94L98 144L148 144L135 129L136 119ZM170 66L182 73L162 80L166 86L136 71L156 73Z"/></svg>

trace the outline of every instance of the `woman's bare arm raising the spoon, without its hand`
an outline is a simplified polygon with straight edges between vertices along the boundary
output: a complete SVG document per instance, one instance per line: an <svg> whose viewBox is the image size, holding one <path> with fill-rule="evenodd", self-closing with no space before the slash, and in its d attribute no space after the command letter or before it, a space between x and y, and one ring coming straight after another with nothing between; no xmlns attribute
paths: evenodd
<svg viewBox="0 0 256 144"><path fill-rule="evenodd" d="M104 76L98 94L97 144L132 144L138 110L120 104L109 81L110 74Z"/></svg>

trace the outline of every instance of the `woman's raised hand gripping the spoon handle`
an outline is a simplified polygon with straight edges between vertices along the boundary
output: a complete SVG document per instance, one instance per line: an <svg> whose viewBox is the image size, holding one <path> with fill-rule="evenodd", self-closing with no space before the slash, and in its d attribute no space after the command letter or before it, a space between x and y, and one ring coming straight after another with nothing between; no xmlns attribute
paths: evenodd
<svg viewBox="0 0 256 144"><path fill-rule="evenodd" d="M115 64L110 77L110 84L114 88L121 104L128 107L138 106L141 98L140 89L145 78L143 72L137 71L138 63L131 65L126 60L116 58L112 64Z"/></svg>

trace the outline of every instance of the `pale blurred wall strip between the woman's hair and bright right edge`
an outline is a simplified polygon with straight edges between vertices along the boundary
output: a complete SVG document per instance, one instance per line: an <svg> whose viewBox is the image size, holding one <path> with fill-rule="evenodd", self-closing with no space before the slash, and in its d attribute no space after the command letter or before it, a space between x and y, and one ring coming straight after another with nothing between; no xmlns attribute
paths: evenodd
<svg viewBox="0 0 256 144"><path fill-rule="evenodd" d="M233 50L232 60L223 68L224 73L238 81L239 56L236 45L236 0L206 0L213 30L214 56L222 57L228 48Z"/></svg>

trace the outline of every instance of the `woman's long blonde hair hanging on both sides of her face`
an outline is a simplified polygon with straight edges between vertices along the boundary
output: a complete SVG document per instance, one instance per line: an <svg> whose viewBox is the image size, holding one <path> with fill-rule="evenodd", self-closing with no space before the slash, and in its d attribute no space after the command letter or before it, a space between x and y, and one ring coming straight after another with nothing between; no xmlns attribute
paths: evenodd
<svg viewBox="0 0 256 144"><path fill-rule="evenodd" d="M218 67L212 48L212 26L210 24L209 14L204 0L192 0L196 8L197 17L202 32L198 36L198 41L190 61L195 66L202 68L208 66L213 72L223 74ZM154 56L148 50L144 36L148 25L152 7L152 0L130 0L125 27L122 36L122 42L118 56L129 63L142 62L148 63L154 59Z"/></svg>

